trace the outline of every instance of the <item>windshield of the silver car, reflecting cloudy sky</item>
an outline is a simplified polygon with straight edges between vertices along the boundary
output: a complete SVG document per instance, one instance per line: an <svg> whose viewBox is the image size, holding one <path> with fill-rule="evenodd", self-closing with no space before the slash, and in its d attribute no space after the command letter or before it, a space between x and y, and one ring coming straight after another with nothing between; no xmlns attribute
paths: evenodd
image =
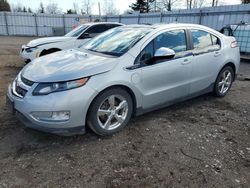
<svg viewBox="0 0 250 188"><path fill-rule="evenodd" d="M117 27L90 40L84 49L113 56L121 56L152 29L149 27Z"/></svg>

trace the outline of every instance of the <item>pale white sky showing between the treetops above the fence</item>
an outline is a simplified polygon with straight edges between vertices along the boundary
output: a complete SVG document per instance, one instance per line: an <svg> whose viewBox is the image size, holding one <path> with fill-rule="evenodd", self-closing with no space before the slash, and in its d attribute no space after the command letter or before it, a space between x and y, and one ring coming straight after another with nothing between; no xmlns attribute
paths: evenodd
<svg viewBox="0 0 250 188"><path fill-rule="evenodd" d="M26 7L30 7L33 11L36 11L39 7L40 2L42 1L44 6L47 4L54 2L58 4L58 7L62 9L63 12L66 12L67 9L73 8L73 3L76 2L81 9L84 0L8 0L11 5L21 4ZM104 4L105 0L91 0L93 1L92 13L98 14L98 2L100 2L101 6ZM114 6L119 10L120 13L129 9L129 5L135 2L136 0L113 0ZM158 0L160 1L160 0ZM212 0L208 0L212 1ZM240 0L219 0L221 4L239 4Z"/></svg>

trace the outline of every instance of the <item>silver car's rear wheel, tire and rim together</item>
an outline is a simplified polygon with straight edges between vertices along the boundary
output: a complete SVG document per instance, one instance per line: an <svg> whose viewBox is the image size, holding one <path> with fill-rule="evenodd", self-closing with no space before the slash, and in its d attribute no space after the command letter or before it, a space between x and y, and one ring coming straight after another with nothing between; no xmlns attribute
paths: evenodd
<svg viewBox="0 0 250 188"><path fill-rule="evenodd" d="M214 84L215 96L224 97L229 92L234 76L234 70L231 66L226 66L220 71Z"/></svg>

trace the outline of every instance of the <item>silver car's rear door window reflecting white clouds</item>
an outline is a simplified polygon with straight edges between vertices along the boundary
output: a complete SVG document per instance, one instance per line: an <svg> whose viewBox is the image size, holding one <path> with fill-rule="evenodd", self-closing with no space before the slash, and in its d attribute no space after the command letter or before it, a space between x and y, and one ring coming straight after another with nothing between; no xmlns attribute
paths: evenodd
<svg viewBox="0 0 250 188"><path fill-rule="evenodd" d="M191 30L194 49L203 49L212 46L210 33L201 30Z"/></svg>

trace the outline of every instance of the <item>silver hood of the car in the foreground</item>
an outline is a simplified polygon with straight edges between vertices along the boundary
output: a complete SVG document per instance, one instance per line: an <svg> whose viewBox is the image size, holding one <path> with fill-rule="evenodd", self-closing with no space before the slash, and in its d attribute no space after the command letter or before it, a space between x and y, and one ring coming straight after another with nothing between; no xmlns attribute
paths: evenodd
<svg viewBox="0 0 250 188"><path fill-rule="evenodd" d="M21 74L33 82L60 82L107 72L116 63L112 56L71 49L37 58Z"/></svg>

